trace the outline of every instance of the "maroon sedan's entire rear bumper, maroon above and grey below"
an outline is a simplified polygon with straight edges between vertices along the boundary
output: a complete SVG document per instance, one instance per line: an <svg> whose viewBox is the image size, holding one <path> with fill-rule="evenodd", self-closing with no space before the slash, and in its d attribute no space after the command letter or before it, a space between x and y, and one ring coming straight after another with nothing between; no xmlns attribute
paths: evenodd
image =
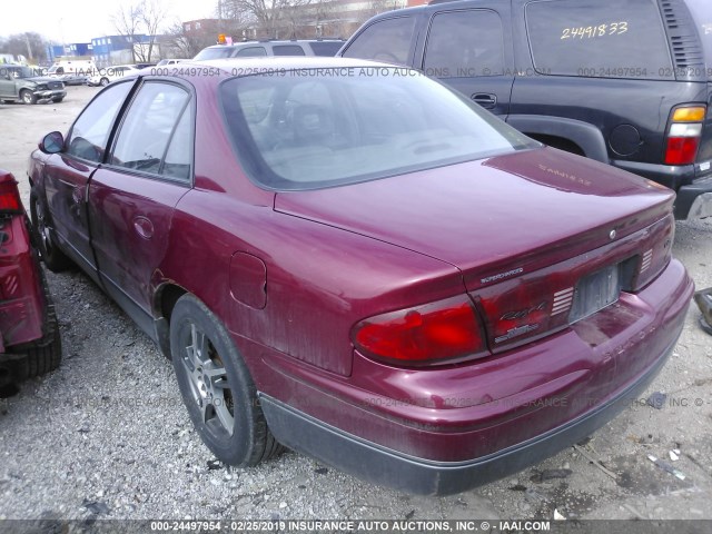
<svg viewBox="0 0 712 534"><path fill-rule="evenodd" d="M462 492L570 446L635 399L674 347L692 293L672 260L597 317L490 362L418 373L355 360L354 375L397 383L405 400L326 390L314 372L271 359L267 384L257 380L263 409L278 441L339 469L411 493Z"/></svg>

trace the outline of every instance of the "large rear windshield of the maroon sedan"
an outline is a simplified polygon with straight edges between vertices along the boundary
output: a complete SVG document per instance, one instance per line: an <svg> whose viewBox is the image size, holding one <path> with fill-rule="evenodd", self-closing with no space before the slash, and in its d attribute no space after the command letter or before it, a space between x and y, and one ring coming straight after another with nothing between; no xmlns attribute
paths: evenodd
<svg viewBox="0 0 712 534"><path fill-rule="evenodd" d="M405 68L300 69L220 88L240 162L300 190L537 147L464 97Z"/></svg>

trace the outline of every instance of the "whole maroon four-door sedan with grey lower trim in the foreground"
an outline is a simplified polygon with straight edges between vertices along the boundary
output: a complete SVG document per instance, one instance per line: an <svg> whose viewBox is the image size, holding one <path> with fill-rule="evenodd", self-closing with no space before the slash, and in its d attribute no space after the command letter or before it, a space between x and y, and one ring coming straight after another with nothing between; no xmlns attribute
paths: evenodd
<svg viewBox="0 0 712 534"><path fill-rule="evenodd" d="M673 194L416 71L181 63L31 158L47 265L172 358L222 462L279 444L447 494L585 437L664 365L693 284Z"/></svg>

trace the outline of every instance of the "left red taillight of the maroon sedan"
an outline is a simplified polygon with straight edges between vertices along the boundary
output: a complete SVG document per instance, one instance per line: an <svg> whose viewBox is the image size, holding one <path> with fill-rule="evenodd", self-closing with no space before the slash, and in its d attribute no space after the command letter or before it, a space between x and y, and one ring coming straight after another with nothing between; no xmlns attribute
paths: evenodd
<svg viewBox="0 0 712 534"><path fill-rule="evenodd" d="M483 356L486 350L466 295L370 317L354 327L353 337L364 354L405 365Z"/></svg>

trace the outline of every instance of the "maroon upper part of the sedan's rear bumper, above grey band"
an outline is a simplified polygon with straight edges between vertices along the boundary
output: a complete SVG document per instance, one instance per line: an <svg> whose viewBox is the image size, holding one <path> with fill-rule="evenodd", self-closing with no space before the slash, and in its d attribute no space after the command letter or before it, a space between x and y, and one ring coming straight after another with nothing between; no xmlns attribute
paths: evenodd
<svg viewBox="0 0 712 534"><path fill-rule="evenodd" d="M273 354L256 374L267 395L353 436L417 458L469 461L564 427L659 368L692 291L673 260L642 294L497 357L424 373L356 353L352 377L334 379Z"/></svg>

